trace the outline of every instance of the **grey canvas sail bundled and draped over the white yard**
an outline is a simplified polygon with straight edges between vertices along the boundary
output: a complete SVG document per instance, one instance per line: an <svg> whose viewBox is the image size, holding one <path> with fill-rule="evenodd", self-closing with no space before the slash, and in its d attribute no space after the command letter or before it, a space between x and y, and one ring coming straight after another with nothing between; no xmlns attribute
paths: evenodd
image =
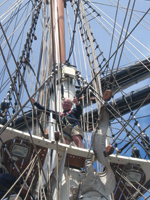
<svg viewBox="0 0 150 200"><path fill-rule="evenodd" d="M71 200L76 199L108 199L114 191L116 180L111 169L109 158L106 153L106 134L109 126L109 115L106 107L102 107L100 119L92 134L92 146L97 160L104 165L104 171L97 173L94 171L92 160L85 162L85 173L82 173L79 187L72 187Z"/></svg>

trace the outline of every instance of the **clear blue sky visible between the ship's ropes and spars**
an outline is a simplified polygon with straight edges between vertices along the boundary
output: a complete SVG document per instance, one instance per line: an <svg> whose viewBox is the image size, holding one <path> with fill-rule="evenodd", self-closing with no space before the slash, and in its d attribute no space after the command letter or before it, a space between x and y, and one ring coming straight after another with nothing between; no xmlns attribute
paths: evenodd
<svg viewBox="0 0 150 200"><path fill-rule="evenodd" d="M113 31L113 28L110 26L110 24L113 26L113 21L111 19L115 18L115 10L116 10L116 8L114 6L115 6L116 2L113 1L114 4L112 4L111 1L103 1L103 0L95 0L93 2L96 2L96 1L97 1L97 4L95 4L95 5L99 6L100 10L98 10L97 7L95 7L95 9L101 14L101 17L97 18L97 21L96 20L91 20L91 29L92 29L92 31L94 33L94 37L96 38L96 41L99 44L99 47L100 47L101 51L104 52L103 53L104 57L106 59L108 59L109 52L110 52L110 44L111 44L111 32ZM4 2L4 1L2 1L2 2ZM125 6L127 6L127 2L128 1L123 1L123 0L120 1L120 3L126 4ZM131 1L130 9L131 9L132 3L133 3L133 1ZM2 7L2 6L0 7L0 15L6 9L6 6L9 6L9 5L6 4L6 5L4 5L5 7ZM69 11L70 11L69 2L67 3L67 5L68 5ZM121 5L121 7L123 9L123 5ZM149 7L150 7L150 1L137 0L136 4L135 4L135 8L134 8L135 13L136 13L136 15L133 14L134 18L139 20L139 17L137 15L140 15L140 17L142 17L144 12ZM27 12L27 10L26 10L26 12ZM70 19L72 21L73 16L71 14L73 14L72 11L69 12ZM122 10L119 10L118 16L117 16L117 23L120 26L116 25L116 29L119 32L121 31L121 27L123 25L124 15L125 15L125 13ZM110 18L108 18L108 16ZM20 18L20 21L18 20L19 18ZM25 18L25 13L24 13L22 18L21 18L21 15L18 16L18 19L17 19L18 25L22 23L24 18ZM92 16L89 17L89 18L92 19ZM4 18L1 18L1 20L3 20L3 19ZM128 19L129 19L129 16L128 16ZM132 30L132 28L137 23L137 21L135 19L132 19L132 21L131 21L131 24L130 24L130 27L129 27L129 32ZM147 22L150 22L150 14L146 15L144 20L147 20ZM128 43L128 42L125 43L124 54L122 55L122 59L121 59L120 64L119 64L120 67L128 66L131 63L136 62L138 59L139 60L140 59L145 59L145 57L149 57L150 56L150 52L149 52L149 49L150 49L150 40L149 40L150 25L144 20L142 21L143 25L139 25L135 29L135 31L133 32L133 36L135 38L137 38L140 41L140 43L138 43L137 40L135 40L133 37L129 37L128 38L130 43ZM2 21L2 25L4 26L5 30L7 28L7 25L5 24L6 21L7 20ZM12 25L14 26L14 23L15 22L13 21L12 24L9 24L9 28L6 31L7 37L10 36L10 34L11 34L12 30L13 30ZM30 57L31 65L33 66L33 68L34 68L34 66L37 68L38 62L39 62L42 23L43 23L42 16L40 16L38 28L35 31L35 34L37 36L37 40L35 40L33 42L33 47L32 47L33 59L32 59L32 56ZM18 25L16 25L16 26L18 26ZM128 24L125 23L125 28L127 27L127 25ZM73 28L73 23L71 24L71 26ZM77 26L78 26L78 24L77 24ZM18 33L20 33L22 27L23 26L21 25L20 28L15 32L15 34L11 38L16 39L18 37ZM28 27L30 27L30 22L28 24ZM67 28L67 25L66 25L66 28ZM24 33L23 33L23 35L22 35L22 37L21 37L21 39L19 41L19 45L13 51L17 60L20 57L20 52L23 49L23 45L24 45L24 42L26 40L26 36L27 36L27 32L28 31L29 31L29 28L24 30ZM2 33L0 32L0 34L2 34ZM74 62L73 59L71 58L70 62L71 62L71 64L75 64L79 69L80 69L80 65L81 65L82 68L84 68L82 76L89 82L90 81L90 70L87 69L87 72L86 72L86 65L87 65L87 68L89 67L89 65L88 65L88 61L84 60L85 51L82 49L83 46L81 45L81 41L80 41L80 37L79 37L79 32L78 31L77 31L77 34L78 34L79 45L77 44L77 38L76 38L75 39L76 45L74 46L74 55L77 57L77 61ZM119 34L118 34L117 31L115 31L115 35L116 35L116 37L119 37ZM123 33L123 35L125 36L125 32ZM11 43L11 38L9 39L10 43ZM21 43L21 41L22 41L22 43ZM117 39L116 39L116 41L117 41ZM123 41L123 39L121 39L121 41ZM3 40L3 42L4 42L4 40ZM3 44L3 42L1 42L1 45ZM136 47L136 49L134 48L134 46L131 45L131 43ZM22 46L20 47L20 45L22 45ZM5 45L3 45L2 47L4 48ZM68 31L66 31L66 58L68 57L69 47L70 47L69 35L68 35ZM113 42L111 54L116 50L116 47L117 47L117 44L115 44L115 42ZM19 52L18 52L18 50L19 50ZM8 55L7 51L8 51L8 49L4 48L4 53L6 53L5 55ZM117 61L119 60L119 53L117 55L117 59L116 59ZM1 61L1 66L4 66L4 62L2 61L2 57L0 57L0 61ZM117 61L115 62L115 67L114 68L117 67ZM110 68L111 68L112 65L113 65L113 59L111 59L109 65L110 65ZM12 59L10 59L10 61L8 62L8 66L9 66L9 69L10 69L11 73L13 73L15 64L14 64ZM30 71L29 74L32 77L33 82L35 82L34 74L32 73L32 71L30 69L29 69L29 71ZM108 73L110 73L110 71ZM27 77L26 83L27 83L28 88L30 90L30 94L32 94L34 92L34 87L33 87L33 82L29 83L29 78L28 78L29 74L27 73L27 75L26 75L26 77ZM5 72L5 74L1 76L1 82L5 81L6 77L8 77L7 76L7 72ZM2 79L3 79L3 81L2 81ZM146 80L142 81L140 84L133 85L132 87L126 89L124 92L125 93L129 93L129 92L131 92L133 90L139 89L139 88L141 88L141 87L143 87L145 85L148 85L148 84L149 84L149 79L146 79ZM1 93L0 102L3 100L4 97L6 97L8 89L9 89L9 84L8 84L8 86L6 86L4 91L2 91L2 93ZM121 93L117 93L115 95L115 98L118 98L120 96L121 96ZM23 102L26 101L25 92L24 92L24 96L23 96L22 100L23 100ZM26 107L26 109L31 108L30 104L28 104L28 106L29 107ZM95 106L93 106L93 108L94 107ZM149 115L149 108L150 108L150 106L147 106L147 107L144 107L143 109L141 109L137 113L137 118L141 117L143 115ZM140 126L141 126L142 129L144 129L148 124L149 124L149 117L148 118L144 118L144 120L140 119ZM147 130L146 133L149 134L149 129ZM122 139L122 138L124 138L124 135L120 136L120 139ZM130 156L130 152L128 152L127 155Z"/></svg>

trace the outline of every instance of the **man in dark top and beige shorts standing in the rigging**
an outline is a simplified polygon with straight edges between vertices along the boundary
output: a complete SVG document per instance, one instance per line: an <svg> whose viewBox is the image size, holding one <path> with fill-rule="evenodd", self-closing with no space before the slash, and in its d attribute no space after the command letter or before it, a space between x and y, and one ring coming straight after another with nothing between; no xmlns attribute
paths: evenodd
<svg viewBox="0 0 150 200"><path fill-rule="evenodd" d="M41 110L45 110L45 107L40 105L35 101L34 98L31 98L31 102ZM75 145L80 148L84 148L82 142L84 133L80 126L80 115L82 114L82 107L79 104L78 100L74 97L73 102L76 104L76 108L72 108L72 101L70 99L64 99L62 102L63 112L55 112L54 110L46 109L46 114L50 115L53 113L53 118L59 123L59 128L63 130L63 136L66 144L74 141Z"/></svg>

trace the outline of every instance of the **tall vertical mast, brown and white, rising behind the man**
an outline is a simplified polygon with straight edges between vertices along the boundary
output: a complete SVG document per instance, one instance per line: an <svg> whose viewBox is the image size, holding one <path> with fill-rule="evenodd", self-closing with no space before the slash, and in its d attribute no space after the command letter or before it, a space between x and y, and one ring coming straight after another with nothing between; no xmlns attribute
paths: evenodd
<svg viewBox="0 0 150 200"><path fill-rule="evenodd" d="M75 75L76 67L68 66L65 64L65 26L64 26L64 0L52 0L52 27L53 27L53 69L54 69L54 91L50 95L50 109L56 110L57 112L62 111L61 100L64 98L70 98L73 100L75 95ZM55 83L55 84L54 84ZM62 89L63 88L63 89ZM62 92L63 90L63 92ZM53 119L51 119L53 120ZM50 123L49 132L54 133L55 130L58 130L58 124L56 121ZM55 124L55 127L54 127ZM63 134L60 133L63 137ZM69 190L68 190L68 178L65 176L66 168L65 161L67 157L67 148L63 152L62 156L59 157L58 150L52 152L52 162L51 170L54 172L57 180L52 181L51 191L53 199L68 199ZM68 170L68 169L67 169ZM71 174L71 172L70 172ZM73 175L73 182L79 182L79 175L75 173ZM71 180L72 181L72 180ZM63 182L63 184L62 184ZM70 183L70 180L69 180ZM66 192L68 190L68 192Z"/></svg>

